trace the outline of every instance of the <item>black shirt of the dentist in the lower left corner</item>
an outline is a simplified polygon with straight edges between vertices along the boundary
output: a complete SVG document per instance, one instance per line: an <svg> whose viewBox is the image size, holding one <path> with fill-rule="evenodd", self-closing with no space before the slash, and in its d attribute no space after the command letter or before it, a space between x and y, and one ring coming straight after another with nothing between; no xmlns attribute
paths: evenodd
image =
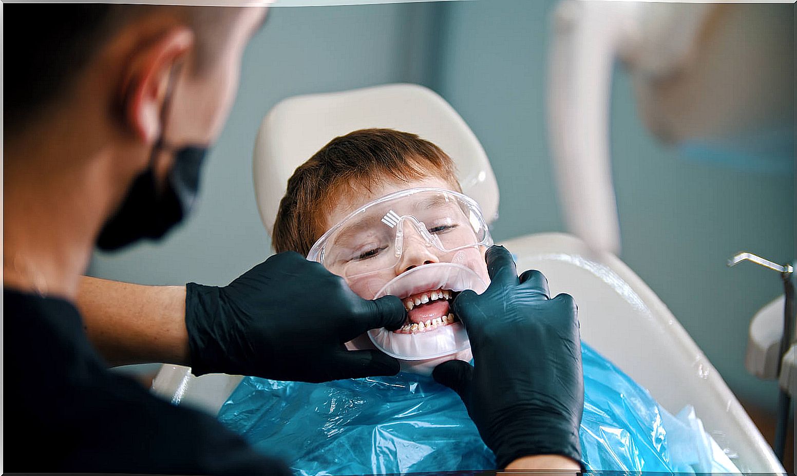
<svg viewBox="0 0 797 476"><path fill-rule="evenodd" d="M108 372L69 301L3 299L4 470L290 474L210 415Z"/></svg>

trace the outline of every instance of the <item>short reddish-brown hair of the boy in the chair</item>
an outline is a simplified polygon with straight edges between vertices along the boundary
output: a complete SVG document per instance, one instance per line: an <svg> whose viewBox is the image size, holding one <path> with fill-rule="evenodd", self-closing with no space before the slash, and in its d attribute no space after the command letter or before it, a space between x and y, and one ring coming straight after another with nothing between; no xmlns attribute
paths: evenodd
<svg viewBox="0 0 797 476"><path fill-rule="evenodd" d="M306 256L313 243L334 225L326 217L342 195L356 196L384 180L408 183L428 176L461 191L453 160L415 134L374 128L336 137L297 167L288 180L274 221L274 250Z"/></svg>

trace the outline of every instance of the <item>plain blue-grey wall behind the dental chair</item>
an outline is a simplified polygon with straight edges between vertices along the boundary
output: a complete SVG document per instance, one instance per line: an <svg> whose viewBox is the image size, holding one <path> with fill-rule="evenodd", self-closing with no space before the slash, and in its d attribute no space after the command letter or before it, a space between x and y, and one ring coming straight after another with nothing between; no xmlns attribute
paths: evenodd
<svg viewBox="0 0 797 476"><path fill-rule="evenodd" d="M245 55L238 100L210 155L198 213L166 242L96 254L91 273L145 284L226 284L269 254L251 179L254 136L265 112L286 96L394 81L441 93L481 140L501 187L495 238L563 230L544 117L553 5L481 0L273 9ZM724 263L738 250L781 262L795 257L794 177L687 161L642 127L622 70L612 89L622 259L740 398L774 406L775 385L748 376L744 349L749 319L779 294L779 279L752 265Z"/></svg>

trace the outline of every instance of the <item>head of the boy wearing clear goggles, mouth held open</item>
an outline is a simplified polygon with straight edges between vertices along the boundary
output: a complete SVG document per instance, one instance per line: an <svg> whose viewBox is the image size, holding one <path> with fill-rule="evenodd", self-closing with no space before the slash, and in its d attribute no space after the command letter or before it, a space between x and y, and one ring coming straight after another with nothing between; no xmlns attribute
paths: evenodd
<svg viewBox="0 0 797 476"><path fill-rule="evenodd" d="M383 199L393 195L403 196ZM346 219L375 199L383 203ZM402 273L432 263L454 262L475 275L459 281L489 282L485 251L492 239L481 210L461 195L450 157L405 132L352 132L296 168L280 203L272 241L277 253L296 251L322 262L367 299ZM391 294L402 298L407 321L395 331L404 336L388 337L411 340L413 335L460 325L449 309L454 291L444 287L438 273L414 273L407 280L411 286L397 282ZM361 336L349 347L373 345ZM470 360L469 348L437 359L402 360L402 368L429 375L435 365L454 357Z"/></svg>

